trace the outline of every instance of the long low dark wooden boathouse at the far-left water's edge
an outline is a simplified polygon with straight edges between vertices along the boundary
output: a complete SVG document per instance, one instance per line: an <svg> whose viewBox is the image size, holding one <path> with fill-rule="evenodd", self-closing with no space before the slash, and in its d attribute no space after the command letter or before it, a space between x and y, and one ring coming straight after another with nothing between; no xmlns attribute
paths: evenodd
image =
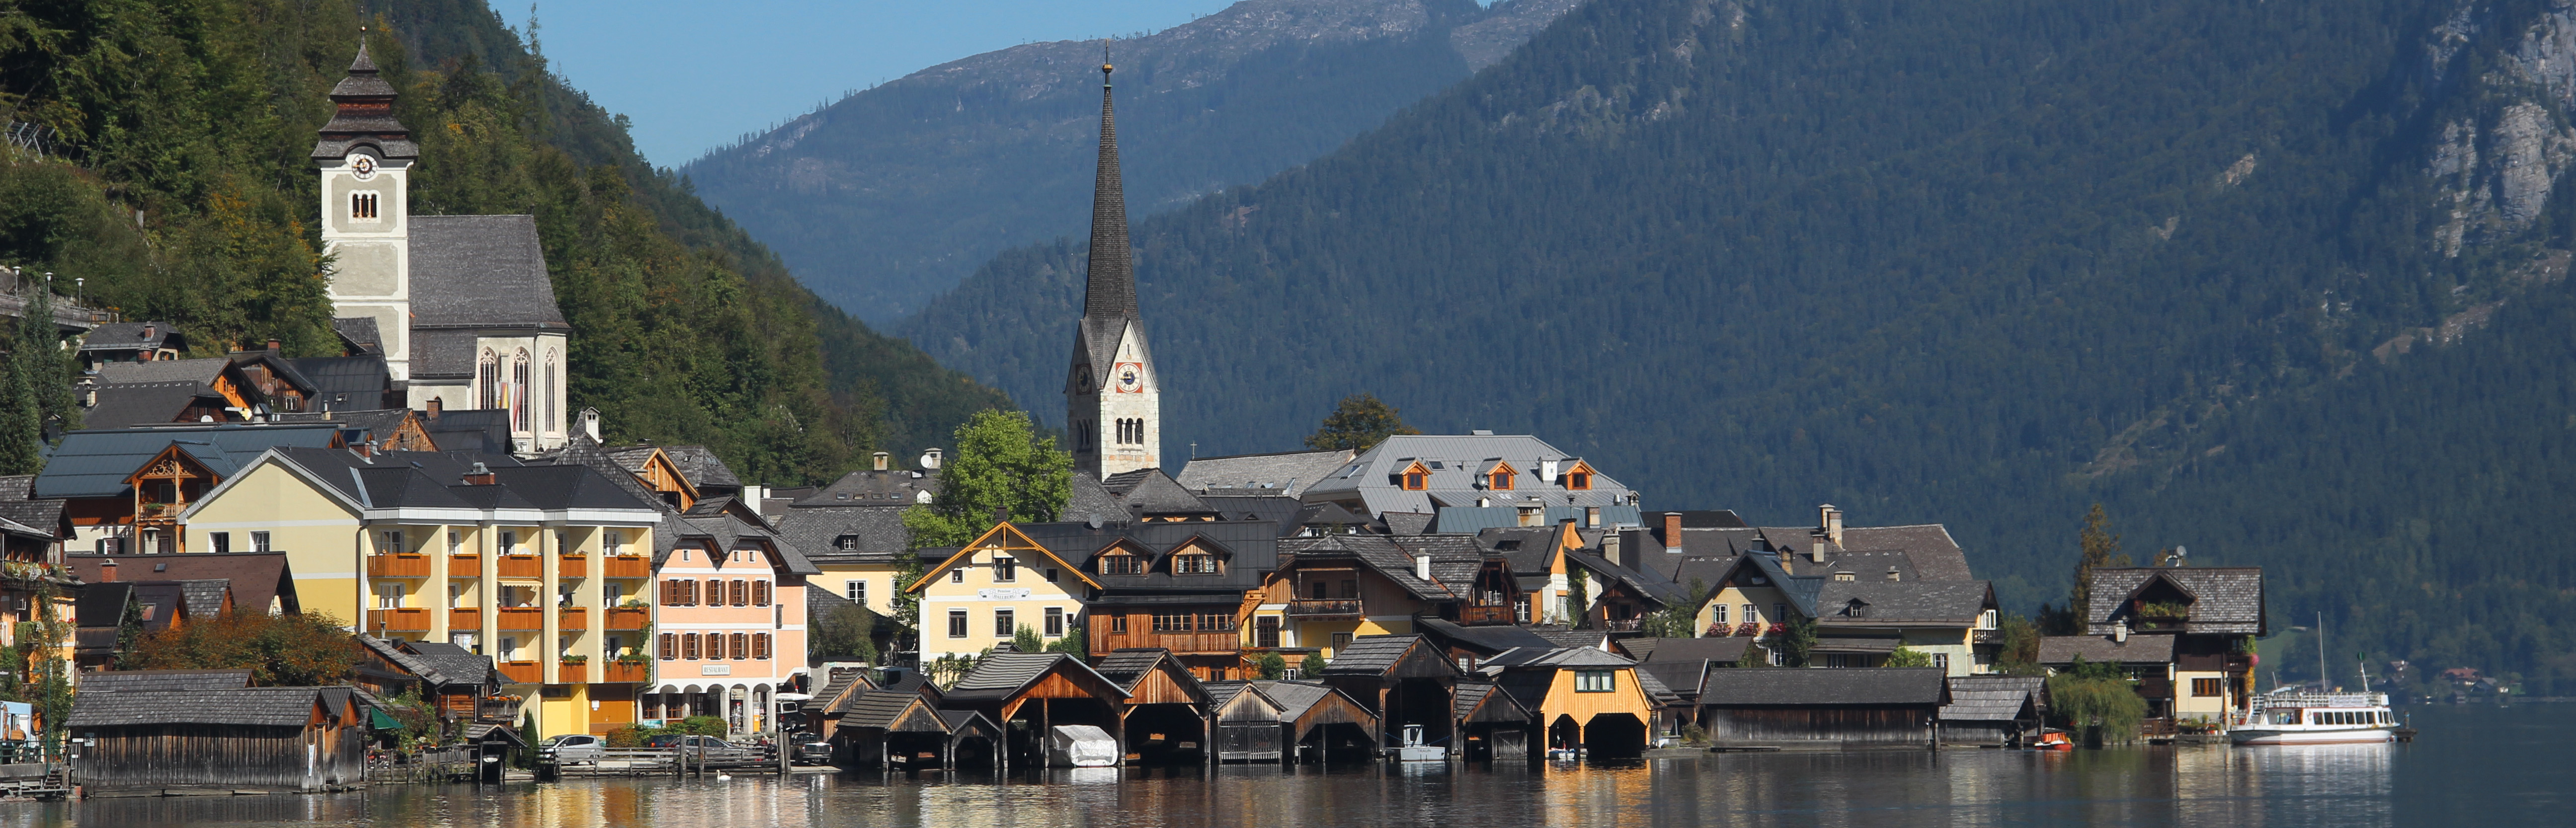
<svg viewBox="0 0 2576 828"><path fill-rule="evenodd" d="M206 687L201 671L82 681L64 720L93 789L286 787L366 779L366 710L348 687Z"/></svg>

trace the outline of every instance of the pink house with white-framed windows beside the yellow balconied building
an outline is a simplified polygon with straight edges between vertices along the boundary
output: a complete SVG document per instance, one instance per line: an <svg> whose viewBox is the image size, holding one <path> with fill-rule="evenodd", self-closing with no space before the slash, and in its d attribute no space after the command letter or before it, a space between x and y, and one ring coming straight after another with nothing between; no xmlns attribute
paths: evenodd
<svg viewBox="0 0 2576 828"><path fill-rule="evenodd" d="M732 499L667 517L654 555L654 684L647 723L721 715L734 733L773 728L778 687L806 666L806 576L822 573Z"/></svg>

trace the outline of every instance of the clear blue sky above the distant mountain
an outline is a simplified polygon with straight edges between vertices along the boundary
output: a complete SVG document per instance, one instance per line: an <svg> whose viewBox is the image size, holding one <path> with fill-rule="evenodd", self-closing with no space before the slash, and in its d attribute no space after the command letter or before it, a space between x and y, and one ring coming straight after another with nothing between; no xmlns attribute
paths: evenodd
<svg viewBox="0 0 2576 828"><path fill-rule="evenodd" d="M541 0L554 69L677 167L848 90L1028 41L1162 31L1231 0ZM510 26L528 8L495 0Z"/></svg>

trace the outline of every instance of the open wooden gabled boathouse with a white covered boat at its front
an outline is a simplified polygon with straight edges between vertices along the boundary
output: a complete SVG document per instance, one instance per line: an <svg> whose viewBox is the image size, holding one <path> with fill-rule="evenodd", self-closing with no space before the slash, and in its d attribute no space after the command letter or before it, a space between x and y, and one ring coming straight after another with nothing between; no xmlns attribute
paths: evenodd
<svg viewBox="0 0 2576 828"><path fill-rule="evenodd" d="M992 653L940 697L940 710L981 712L1002 725L1002 769L1043 766L1046 733L1056 725L1092 725L1126 753L1126 689L1082 658L1064 653Z"/></svg>

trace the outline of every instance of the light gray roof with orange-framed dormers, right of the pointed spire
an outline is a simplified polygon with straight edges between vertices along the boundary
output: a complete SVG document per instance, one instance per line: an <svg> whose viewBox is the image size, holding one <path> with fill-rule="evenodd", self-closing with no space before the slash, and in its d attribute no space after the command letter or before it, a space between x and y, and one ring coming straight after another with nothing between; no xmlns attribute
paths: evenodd
<svg viewBox="0 0 2576 828"><path fill-rule="evenodd" d="M1394 481L1414 460L1422 460L1425 468L1437 463L1437 468L1430 468L1432 476L1425 491L1404 491ZM1517 471L1512 491L1486 491L1484 481L1479 481L1497 460ZM1600 468L1595 468L1589 491L1566 491L1556 481L1540 478L1543 460L1571 465L1579 458L1530 435L1396 435L1327 473L1301 496L1306 501L1358 499L1368 507L1368 514L1435 514L1437 507L1473 507L1476 499L1492 499L1499 507L1528 501L1530 496L1538 496L1548 507L1628 504L1628 486L1600 473Z"/></svg>

